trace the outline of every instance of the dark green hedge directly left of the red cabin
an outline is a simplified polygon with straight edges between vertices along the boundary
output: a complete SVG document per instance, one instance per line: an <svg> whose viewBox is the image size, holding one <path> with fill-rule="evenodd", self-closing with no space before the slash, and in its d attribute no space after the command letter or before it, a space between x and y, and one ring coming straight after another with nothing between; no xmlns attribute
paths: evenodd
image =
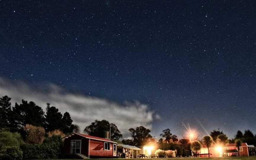
<svg viewBox="0 0 256 160"><path fill-rule="evenodd" d="M61 137L53 135L42 144L21 146L24 159L57 159L60 156Z"/></svg>

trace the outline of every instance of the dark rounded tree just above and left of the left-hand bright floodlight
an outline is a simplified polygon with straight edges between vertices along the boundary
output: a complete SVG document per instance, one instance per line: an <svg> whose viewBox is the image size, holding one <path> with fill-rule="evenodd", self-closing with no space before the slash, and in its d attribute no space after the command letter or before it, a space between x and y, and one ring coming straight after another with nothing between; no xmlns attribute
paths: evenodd
<svg viewBox="0 0 256 160"><path fill-rule="evenodd" d="M134 131L132 138L135 146L145 145L152 138L149 134L151 131L143 126L137 127L136 129L130 128L129 130Z"/></svg>

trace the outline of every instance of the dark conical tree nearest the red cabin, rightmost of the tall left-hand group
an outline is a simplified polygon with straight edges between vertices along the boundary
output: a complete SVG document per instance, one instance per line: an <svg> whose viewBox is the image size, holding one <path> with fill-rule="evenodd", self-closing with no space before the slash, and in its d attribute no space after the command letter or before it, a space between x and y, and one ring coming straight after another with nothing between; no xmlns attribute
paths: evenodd
<svg viewBox="0 0 256 160"><path fill-rule="evenodd" d="M61 130L64 134L72 133L74 129L74 125L72 125L73 120L70 117L70 114L68 112L65 112L62 120L61 120Z"/></svg>

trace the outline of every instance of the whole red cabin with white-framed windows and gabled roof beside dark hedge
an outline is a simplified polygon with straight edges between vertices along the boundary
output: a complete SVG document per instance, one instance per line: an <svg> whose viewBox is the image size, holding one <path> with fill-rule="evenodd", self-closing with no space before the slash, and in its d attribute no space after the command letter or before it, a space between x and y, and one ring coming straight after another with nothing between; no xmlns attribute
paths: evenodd
<svg viewBox="0 0 256 160"><path fill-rule="evenodd" d="M63 154L76 154L82 158L116 157L116 142L106 138L71 133L65 137Z"/></svg>

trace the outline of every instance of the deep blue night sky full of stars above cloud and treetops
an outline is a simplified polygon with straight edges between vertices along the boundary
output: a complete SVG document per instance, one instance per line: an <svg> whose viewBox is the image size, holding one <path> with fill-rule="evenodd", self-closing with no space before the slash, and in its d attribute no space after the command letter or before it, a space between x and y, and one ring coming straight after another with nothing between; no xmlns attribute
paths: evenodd
<svg viewBox="0 0 256 160"><path fill-rule="evenodd" d="M12 84L36 88L31 92L54 84L65 93L121 104L119 109L126 102L140 104L138 110L143 104L141 115L148 113L155 136L170 128L182 137L182 122L199 135L218 128L229 138L237 130L256 133L256 1L0 5L0 78L10 86L2 95Z"/></svg>

